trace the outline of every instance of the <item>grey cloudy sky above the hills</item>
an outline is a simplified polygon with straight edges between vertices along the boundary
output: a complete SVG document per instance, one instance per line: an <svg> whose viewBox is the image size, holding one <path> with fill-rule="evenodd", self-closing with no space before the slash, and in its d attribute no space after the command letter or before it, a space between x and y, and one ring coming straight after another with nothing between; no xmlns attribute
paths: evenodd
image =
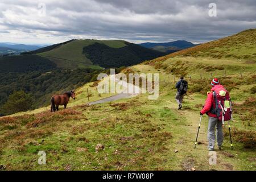
<svg viewBox="0 0 256 182"><path fill-rule="evenodd" d="M217 16L209 16L211 2ZM202 43L248 28L256 28L255 0L0 0L0 42Z"/></svg>

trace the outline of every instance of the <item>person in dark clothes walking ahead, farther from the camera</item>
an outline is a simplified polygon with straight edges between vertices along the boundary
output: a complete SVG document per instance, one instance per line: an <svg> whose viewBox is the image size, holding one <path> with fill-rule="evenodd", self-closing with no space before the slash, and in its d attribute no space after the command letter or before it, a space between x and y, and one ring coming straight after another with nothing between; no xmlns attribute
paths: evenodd
<svg viewBox="0 0 256 182"><path fill-rule="evenodd" d="M183 76L180 77L180 80L176 83L177 93L175 96L175 100L177 104L179 104L178 109L182 107L182 100L188 89L188 82L184 80Z"/></svg>

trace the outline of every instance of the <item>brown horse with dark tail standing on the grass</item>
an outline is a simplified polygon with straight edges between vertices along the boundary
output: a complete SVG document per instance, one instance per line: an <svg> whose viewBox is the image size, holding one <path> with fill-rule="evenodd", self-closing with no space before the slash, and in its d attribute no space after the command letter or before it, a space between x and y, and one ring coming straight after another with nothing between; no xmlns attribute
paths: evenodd
<svg viewBox="0 0 256 182"><path fill-rule="evenodd" d="M66 109L70 97L72 97L73 100L76 99L75 90L65 92L63 95L52 96L51 97L51 112L52 111L55 112L56 110L59 110L59 105L64 105L64 109Z"/></svg>

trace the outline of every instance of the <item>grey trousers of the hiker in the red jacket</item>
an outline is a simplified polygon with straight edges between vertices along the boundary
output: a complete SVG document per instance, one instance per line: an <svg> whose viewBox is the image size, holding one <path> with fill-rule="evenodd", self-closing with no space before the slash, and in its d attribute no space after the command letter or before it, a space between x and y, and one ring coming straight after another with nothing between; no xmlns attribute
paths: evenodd
<svg viewBox="0 0 256 182"><path fill-rule="evenodd" d="M218 120L218 118L209 117L208 124L208 148L213 149L215 143L215 128L217 130L217 144L220 147L223 143L223 132L222 132L222 122Z"/></svg>

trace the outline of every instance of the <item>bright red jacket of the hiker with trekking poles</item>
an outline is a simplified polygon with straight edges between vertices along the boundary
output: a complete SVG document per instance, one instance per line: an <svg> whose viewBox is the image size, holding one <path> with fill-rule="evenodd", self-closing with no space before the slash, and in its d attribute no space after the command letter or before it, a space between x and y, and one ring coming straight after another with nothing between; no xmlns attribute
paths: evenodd
<svg viewBox="0 0 256 182"><path fill-rule="evenodd" d="M216 85L213 86L212 89L210 89L210 93L207 95L207 100L205 100L204 108L200 111L202 114L207 113L210 117L217 118L216 114L212 114L209 111L212 108L212 106L215 108L215 102L213 101L213 91L220 87L224 88L224 86L222 85Z"/></svg>

